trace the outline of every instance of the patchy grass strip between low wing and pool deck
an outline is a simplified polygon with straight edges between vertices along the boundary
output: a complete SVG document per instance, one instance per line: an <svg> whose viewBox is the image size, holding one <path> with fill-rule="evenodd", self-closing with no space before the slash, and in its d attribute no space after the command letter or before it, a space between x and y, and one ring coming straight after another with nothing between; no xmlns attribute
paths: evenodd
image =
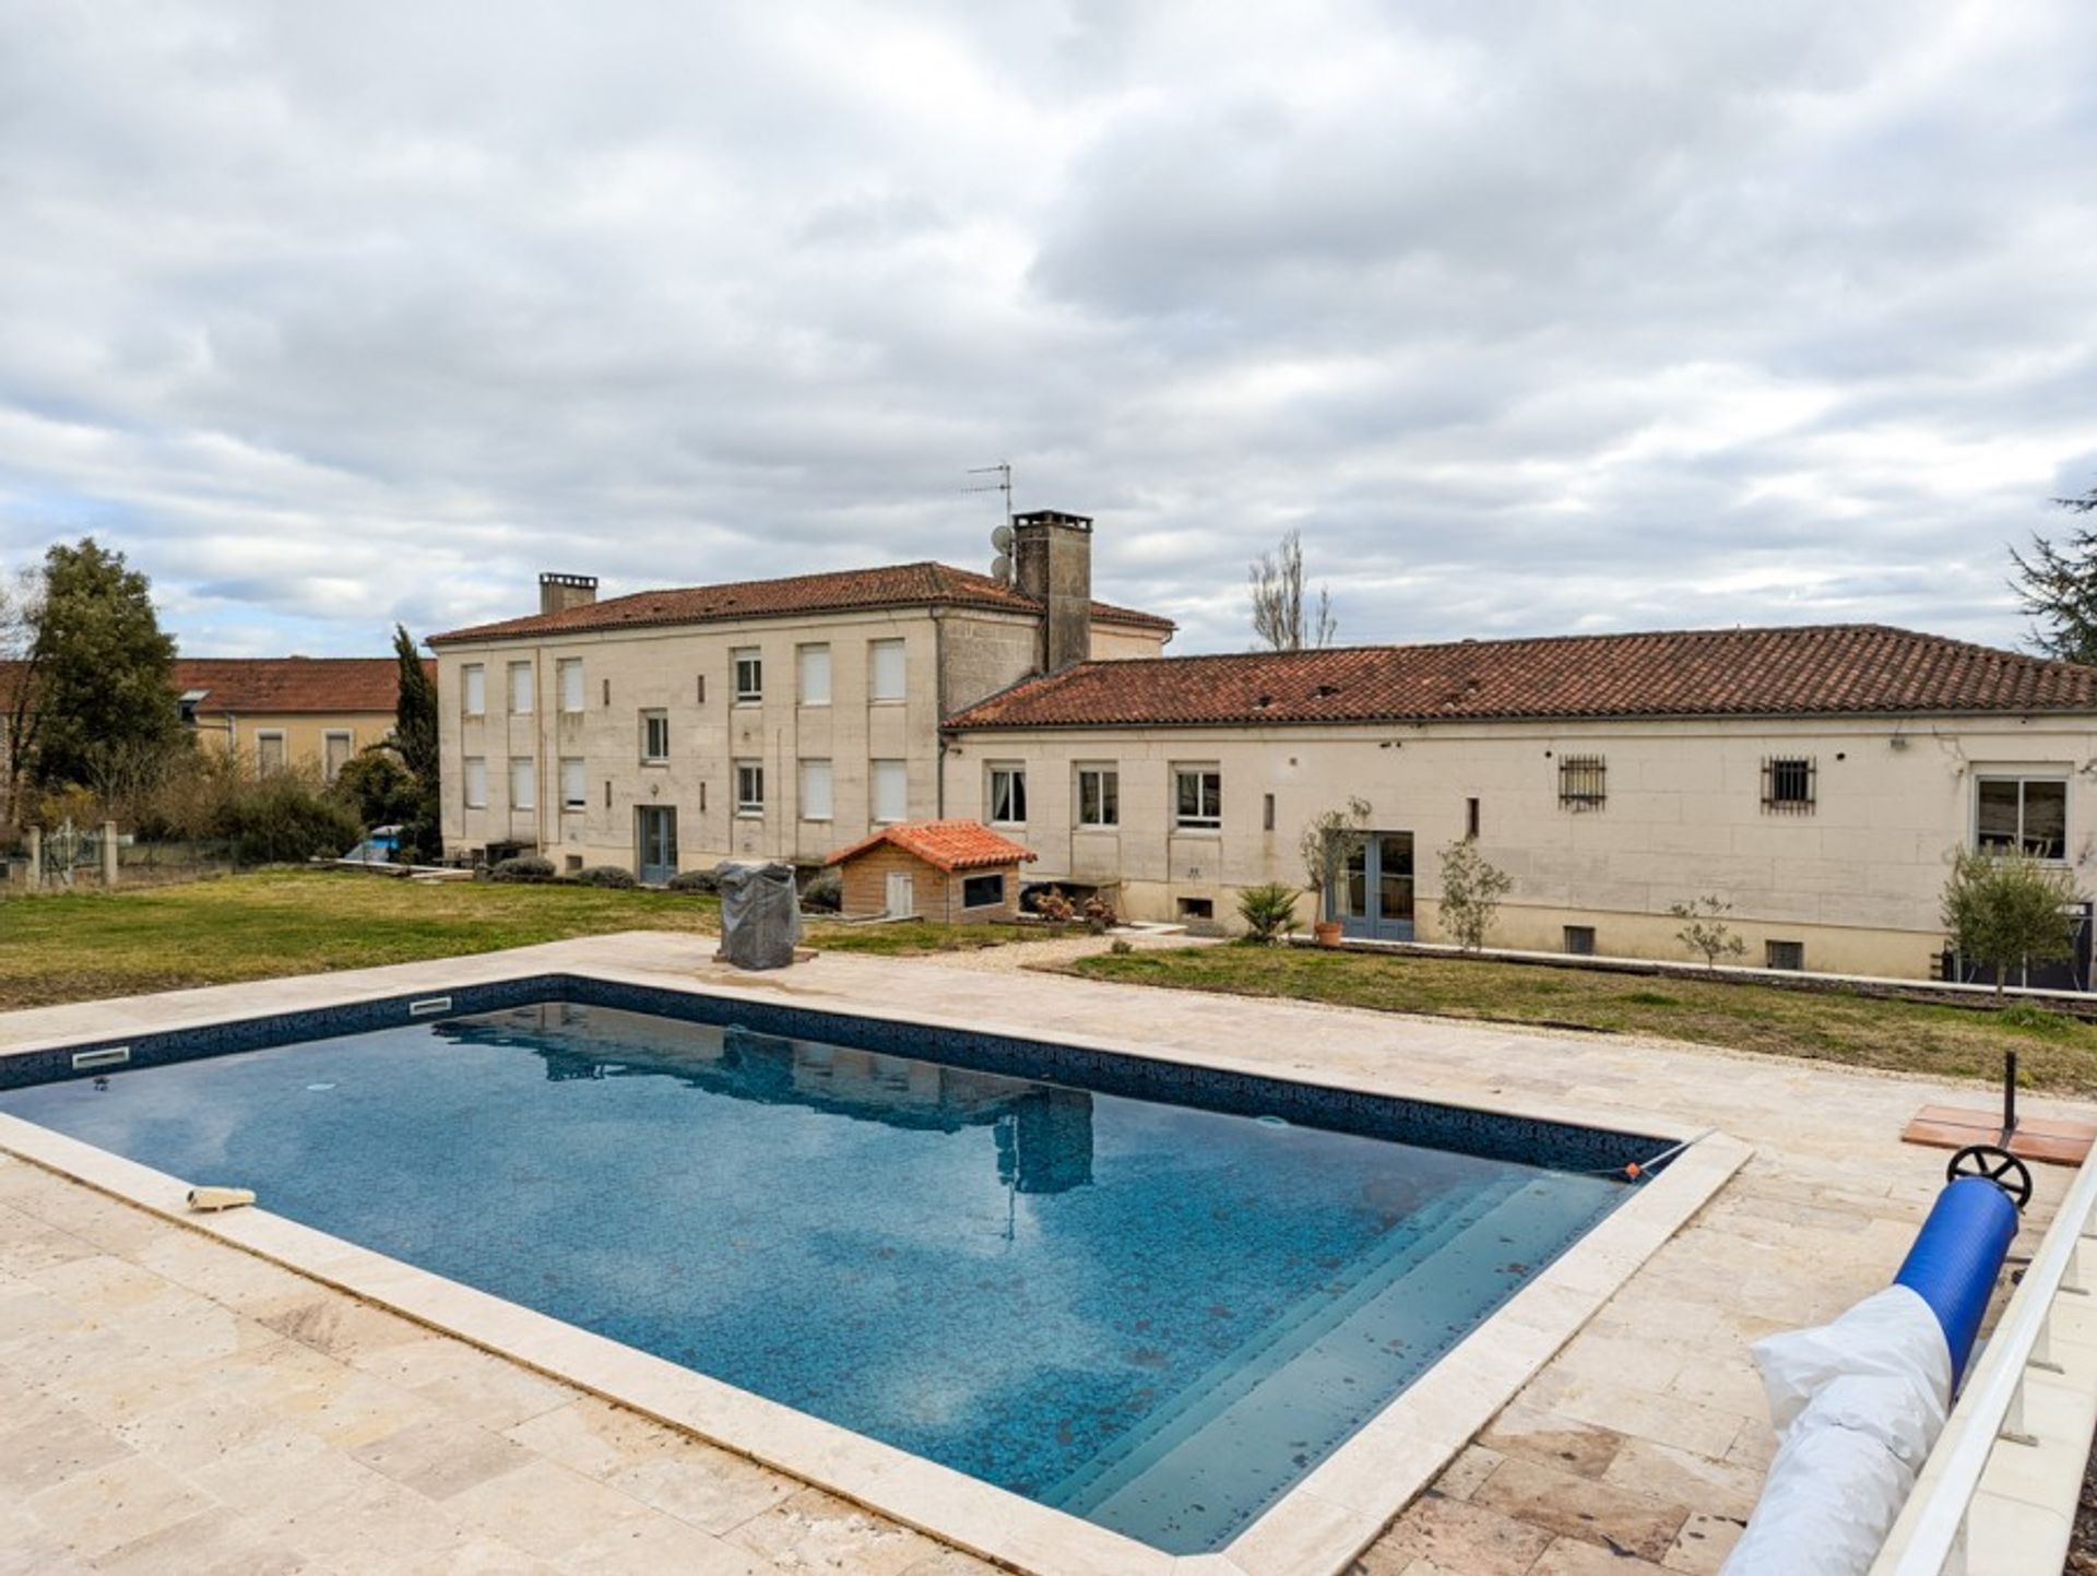
<svg viewBox="0 0 2097 1576"><path fill-rule="evenodd" d="M1063 972L1380 1012L1661 1035L1936 1077L2001 1079L2003 1052L2015 1050L2026 1088L2097 1094L2097 1025L2028 1004L1973 1012L1671 975L1244 945L1103 954L1080 958Z"/></svg>

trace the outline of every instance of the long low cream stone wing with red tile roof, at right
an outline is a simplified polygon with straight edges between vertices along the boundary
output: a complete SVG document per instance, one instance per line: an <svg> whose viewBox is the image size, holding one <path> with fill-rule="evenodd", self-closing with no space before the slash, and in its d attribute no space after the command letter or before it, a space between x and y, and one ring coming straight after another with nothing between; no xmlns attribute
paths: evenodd
<svg viewBox="0 0 2097 1576"><path fill-rule="evenodd" d="M1355 937L1441 939L1474 836L1495 945L1686 958L1669 905L1715 895L1747 962L1915 979L1954 849L2097 878L2093 773L2097 669L1847 625L1086 662L948 717L946 807L1036 880L1235 926L1359 801Z"/></svg>

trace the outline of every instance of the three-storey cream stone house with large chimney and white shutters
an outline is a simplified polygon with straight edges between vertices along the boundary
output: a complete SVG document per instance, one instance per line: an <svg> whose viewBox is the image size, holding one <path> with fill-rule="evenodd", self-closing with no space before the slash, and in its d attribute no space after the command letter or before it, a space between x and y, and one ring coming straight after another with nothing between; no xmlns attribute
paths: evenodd
<svg viewBox="0 0 2097 1576"><path fill-rule="evenodd" d="M1040 511L1015 520L1009 583L891 564L600 601L543 574L537 614L430 641L445 847L661 882L939 819L948 713L1172 637L1095 601L1090 555L1090 520Z"/></svg>

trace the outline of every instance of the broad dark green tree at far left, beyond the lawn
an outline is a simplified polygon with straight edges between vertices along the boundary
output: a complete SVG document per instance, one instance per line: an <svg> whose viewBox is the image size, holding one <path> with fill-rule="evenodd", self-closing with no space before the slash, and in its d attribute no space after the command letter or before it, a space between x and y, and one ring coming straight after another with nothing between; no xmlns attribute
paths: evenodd
<svg viewBox="0 0 2097 1576"><path fill-rule="evenodd" d="M94 782L117 761L191 742L153 589L92 537L44 553L29 671L36 731L25 767L40 788Z"/></svg>

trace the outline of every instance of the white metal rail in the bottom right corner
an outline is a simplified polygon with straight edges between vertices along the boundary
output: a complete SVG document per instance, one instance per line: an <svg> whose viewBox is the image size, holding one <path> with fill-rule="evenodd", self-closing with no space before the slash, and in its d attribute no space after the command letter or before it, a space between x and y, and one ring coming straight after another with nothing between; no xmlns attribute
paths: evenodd
<svg viewBox="0 0 2097 1576"><path fill-rule="evenodd" d="M2040 1448L2040 1440L2026 1427L2026 1385L2034 1377L2055 1381L2066 1375L2063 1364L2055 1360L2053 1327L2057 1316L2068 1308L2074 1308L2072 1316L2078 1320L2097 1314L2097 1295L2091 1295L2097 1291L2091 1285L2091 1270L2097 1268L2097 1260L2093 1260L2097 1253L2093 1209L2097 1209L2097 1153L2082 1163L2068 1197L2061 1199L2053 1226L2003 1310L1980 1366L1967 1379L1936 1450L1929 1452L1929 1461L1917 1478L1915 1492L1871 1568L1871 1576L1963 1576L1967 1572L1973 1501L1984 1488L1990 1461L1996 1450ZM2087 1371L2089 1362L2076 1366ZM2080 1452L2087 1454L2087 1419L2080 1436ZM2068 1440L2063 1448L2072 1446L2074 1440ZM2082 1482L2082 1461L2074 1459L2070 1467L2072 1471L2063 1478L2068 1498L2059 1507L2063 1522L2074 1515L2074 1484Z"/></svg>

